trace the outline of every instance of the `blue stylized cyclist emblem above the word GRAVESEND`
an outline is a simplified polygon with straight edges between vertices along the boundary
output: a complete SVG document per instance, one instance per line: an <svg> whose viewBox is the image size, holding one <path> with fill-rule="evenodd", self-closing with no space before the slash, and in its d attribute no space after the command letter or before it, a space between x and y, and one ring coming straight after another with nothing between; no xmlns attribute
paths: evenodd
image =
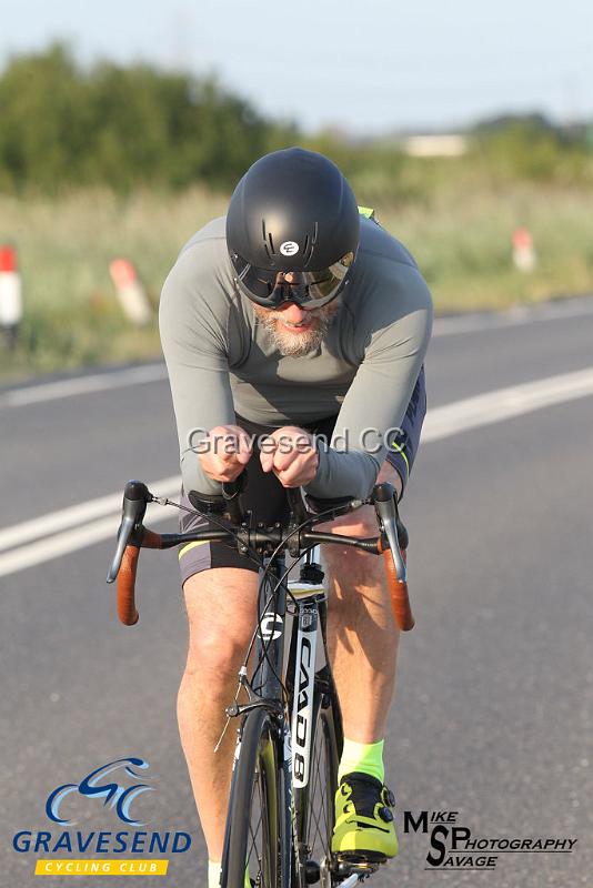
<svg viewBox="0 0 593 888"><path fill-rule="evenodd" d="M58 786L46 801L46 814L56 824L71 826L76 820L68 820L63 816L63 810L68 810L67 799L78 794L90 799L103 799L103 807L109 806L115 814L130 826L143 826L140 820L132 816L131 807L138 796L142 793L153 791L154 787L147 783L138 783L143 779L143 775L138 774L134 768L145 770L150 765L143 758L118 758L109 761L100 768L88 774L79 784L63 784ZM119 774L118 774L119 773ZM114 777L112 775L115 775ZM137 783L129 786L129 780L121 783L123 775L132 778ZM145 779L145 778L144 778Z"/></svg>

